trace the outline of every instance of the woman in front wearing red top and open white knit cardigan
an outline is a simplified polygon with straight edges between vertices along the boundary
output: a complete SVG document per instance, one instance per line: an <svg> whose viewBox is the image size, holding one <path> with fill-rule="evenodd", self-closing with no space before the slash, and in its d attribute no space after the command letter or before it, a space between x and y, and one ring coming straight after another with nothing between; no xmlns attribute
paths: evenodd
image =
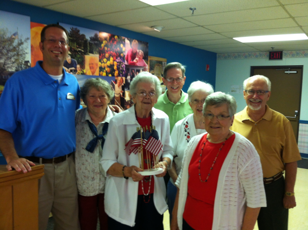
<svg viewBox="0 0 308 230"><path fill-rule="evenodd" d="M237 104L222 92L203 105L207 133L185 149L171 229L254 229L266 206L260 157L251 142L230 131Z"/></svg>

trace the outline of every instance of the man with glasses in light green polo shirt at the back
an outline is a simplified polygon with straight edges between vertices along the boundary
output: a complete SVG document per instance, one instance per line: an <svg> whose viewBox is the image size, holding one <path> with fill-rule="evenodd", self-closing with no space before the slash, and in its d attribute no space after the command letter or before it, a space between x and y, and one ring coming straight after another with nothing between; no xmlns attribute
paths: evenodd
<svg viewBox="0 0 308 230"><path fill-rule="evenodd" d="M160 95L155 108L164 111L170 121L170 133L174 125L192 113L189 106L188 94L183 92L185 83L185 67L178 62L166 65L163 75L163 83L167 87L164 94Z"/></svg>

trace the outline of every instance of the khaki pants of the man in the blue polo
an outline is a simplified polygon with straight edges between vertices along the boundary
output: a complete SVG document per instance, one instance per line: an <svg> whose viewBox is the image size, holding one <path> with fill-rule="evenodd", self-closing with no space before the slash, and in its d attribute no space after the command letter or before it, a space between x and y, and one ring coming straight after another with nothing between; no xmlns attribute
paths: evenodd
<svg viewBox="0 0 308 230"><path fill-rule="evenodd" d="M55 230L80 229L74 156L58 164L45 164L38 181L38 229L46 230L50 212ZM35 163L40 164L40 162Z"/></svg>

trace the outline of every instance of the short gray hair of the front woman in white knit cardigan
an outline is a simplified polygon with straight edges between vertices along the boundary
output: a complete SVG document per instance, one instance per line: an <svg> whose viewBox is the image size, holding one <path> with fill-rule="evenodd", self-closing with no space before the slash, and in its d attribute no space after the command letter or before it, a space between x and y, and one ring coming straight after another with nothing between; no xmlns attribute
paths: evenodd
<svg viewBox="0 0 308 230"><path fill-rule="evenodd" d="M232 117L236 113L237 104L236 100L232 95L226 94L224 92L214 92L208 95L203 104L203 114L205 113L206 106L214 105L219 107L226 104L229 110L229 116Z"/></svg>

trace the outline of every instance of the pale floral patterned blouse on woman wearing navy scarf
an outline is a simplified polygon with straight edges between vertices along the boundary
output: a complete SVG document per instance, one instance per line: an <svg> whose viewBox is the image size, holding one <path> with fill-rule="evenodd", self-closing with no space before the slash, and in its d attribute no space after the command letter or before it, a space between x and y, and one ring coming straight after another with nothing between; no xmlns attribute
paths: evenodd
<svg viewBox="0 0 308 230"><path fill-rule="evenodd" d="M102 134L105 122L114 116L114 113L107 107L105 120L97 126L98 135ZM87 108L76 111L75 128L76 128L76 154L75 167L78 193L82 196L95 196L104 193L106 178L103 176L103 168L100 165L103 149L102 141L99 140L93 152L86 150L88 143L95 138L95 135L89 128L87 120L92 120ZM107 135L107 133L106 133ZM104 138L106 138L104 135Z"/></svg>

